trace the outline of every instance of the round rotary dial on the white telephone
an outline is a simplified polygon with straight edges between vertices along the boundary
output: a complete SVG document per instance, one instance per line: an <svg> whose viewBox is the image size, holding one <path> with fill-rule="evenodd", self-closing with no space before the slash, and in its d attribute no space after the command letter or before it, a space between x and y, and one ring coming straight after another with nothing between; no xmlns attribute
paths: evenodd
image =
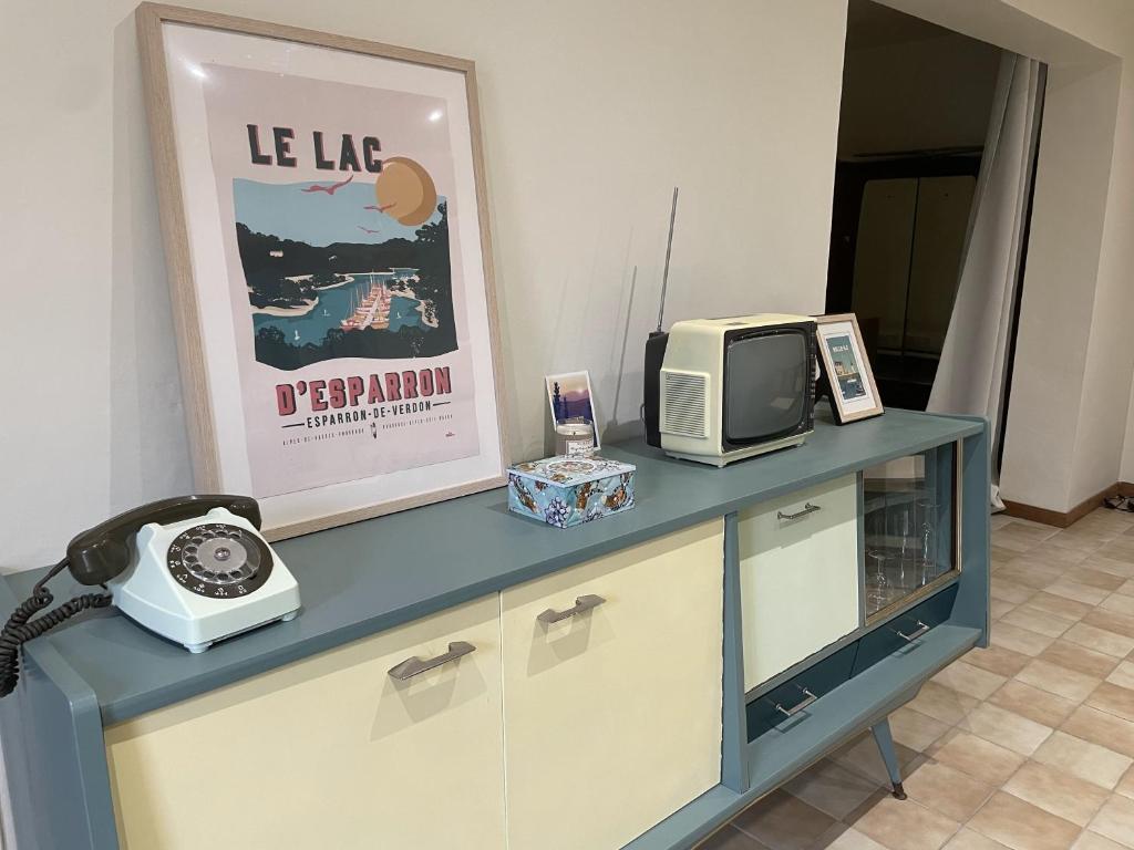
<svg viewBox="0 0 1134 850"><path fill-rule="evenodd" d="M260 536L226 522L181 532L169 544L167 563L183 587L210 598L246 596L272 570L271 552Z"/></svg>

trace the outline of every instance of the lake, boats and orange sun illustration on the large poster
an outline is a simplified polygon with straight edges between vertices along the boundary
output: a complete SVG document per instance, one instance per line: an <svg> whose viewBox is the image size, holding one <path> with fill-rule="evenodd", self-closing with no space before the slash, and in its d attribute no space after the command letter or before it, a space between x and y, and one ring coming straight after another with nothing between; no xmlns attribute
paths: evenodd
<svg viewBox="0 0 1134 850"><path fill-rule="evenodd" d="M232 181L256 359L280 369L457 348L448 202L415 160L370 182Z"/></svg>

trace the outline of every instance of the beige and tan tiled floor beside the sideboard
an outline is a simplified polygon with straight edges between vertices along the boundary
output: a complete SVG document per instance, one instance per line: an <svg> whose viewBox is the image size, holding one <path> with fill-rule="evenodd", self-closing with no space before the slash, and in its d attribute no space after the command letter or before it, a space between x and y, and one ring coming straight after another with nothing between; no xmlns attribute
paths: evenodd
<svg viewBox="0 0 1134 850"><path fill-rule="evenodd" d="M703 850L1134 848L1134 515L992 529L992 646L890 719L909 799L868 733Z"/></svg>

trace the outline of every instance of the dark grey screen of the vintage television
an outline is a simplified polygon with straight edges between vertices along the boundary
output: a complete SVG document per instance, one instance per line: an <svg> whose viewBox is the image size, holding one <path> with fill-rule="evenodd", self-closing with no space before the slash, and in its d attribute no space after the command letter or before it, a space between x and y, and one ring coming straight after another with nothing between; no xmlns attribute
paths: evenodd
<svg viewBox="0 0 1134 850"><path fill-rule="evenodd" d="M798 425L811 380L807 367L803 331L734 340L725 352L725 440L765 440Z"/></svg>

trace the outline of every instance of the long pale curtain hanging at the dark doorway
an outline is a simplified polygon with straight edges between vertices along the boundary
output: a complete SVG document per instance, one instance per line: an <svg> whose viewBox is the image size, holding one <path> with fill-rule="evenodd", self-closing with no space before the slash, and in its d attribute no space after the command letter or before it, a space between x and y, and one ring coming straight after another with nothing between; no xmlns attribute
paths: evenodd
<svg viewBox="0 0 1134 850"><path fill-rule="evenodd" d="M993 465L1044 78L1042 62L1007 52L1000 59L957 296L926 408L987 416ZM992 476L992 505L1002 509L995 466Z"/></svg>

